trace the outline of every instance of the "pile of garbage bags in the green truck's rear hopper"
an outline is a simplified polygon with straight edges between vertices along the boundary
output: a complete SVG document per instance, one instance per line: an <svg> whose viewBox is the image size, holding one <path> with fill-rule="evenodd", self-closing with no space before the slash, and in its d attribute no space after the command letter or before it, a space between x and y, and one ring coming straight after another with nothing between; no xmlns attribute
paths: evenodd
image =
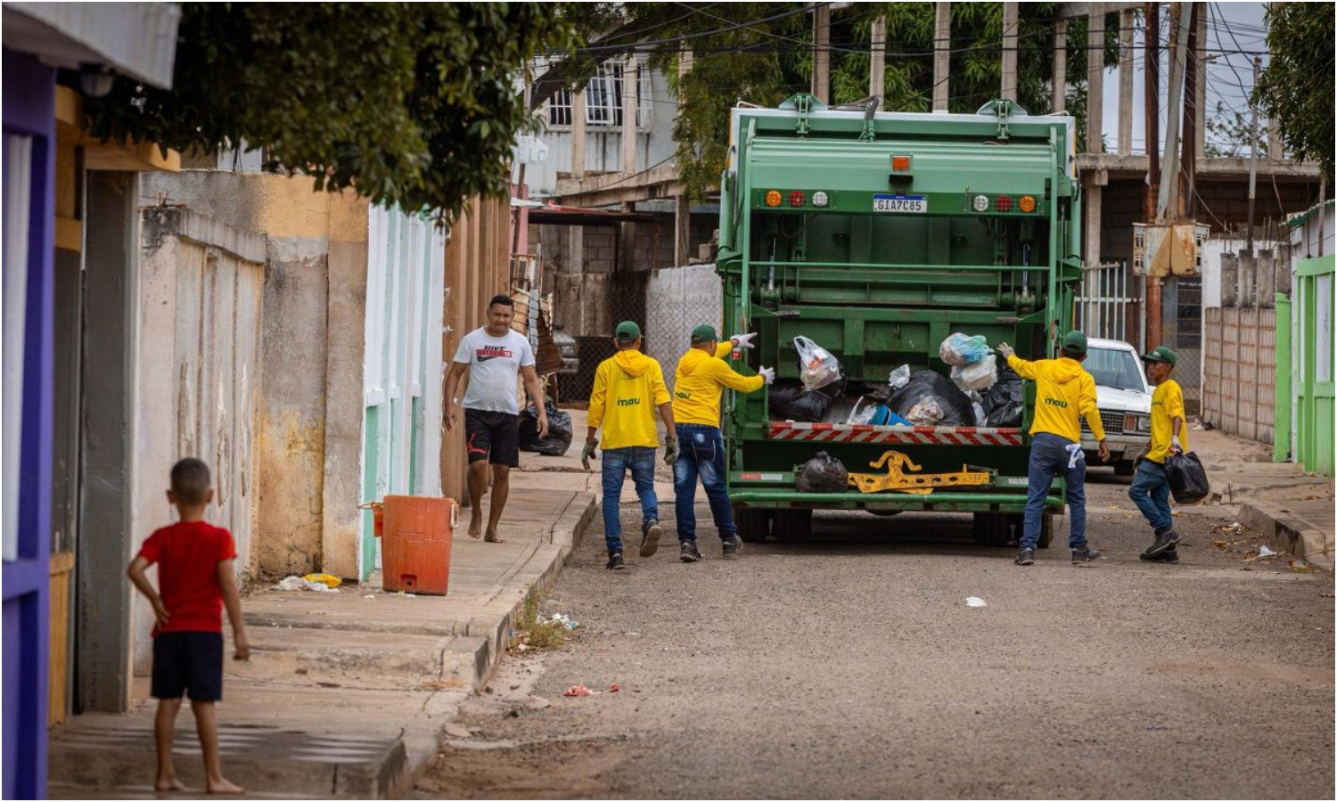
<svg viewBox="0 0 1337 802"><path fill-rule="evenodd" d="M885 381L848 380L840 360L808 337L793 340L798 378L770 388L770 417L796 422L1015 428L1021 378L984 337L953 333L939 348L951 374L901 365Z"/></svg>

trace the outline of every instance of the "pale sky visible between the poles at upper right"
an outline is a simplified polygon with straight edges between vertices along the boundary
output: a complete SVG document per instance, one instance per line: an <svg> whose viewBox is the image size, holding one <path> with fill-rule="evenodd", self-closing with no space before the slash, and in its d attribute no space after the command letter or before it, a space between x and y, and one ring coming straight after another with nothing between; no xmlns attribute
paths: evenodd
<svg viewBox="0 0 1337 802"><path fill-rule="evenodd" d="M1186 4L1187 5L1187 4ZM1262 55L1262 65L1267 65L1266 29L1263 28L1262 3L1201 3L1202 12L1207 15L1207 115L1215 114L1219 103L1226 115L1238 111L1247 122L1250 118L1249 91L1253 88L1253 53ZM1140 27L1140 21L1138 23ZM1166 80L1169 79L1169 60L1165 55L1165 43L1169 39L1169 4L1162 5L1161 12L1161 44L1162 44L1162 71L1161 71L1161 147L1165 147L1165 106L1169 100ZM1132 152L1146 152L1146 124L1143 123L1143 49L1142 31L1134 33L1134 80L1132 80ZM1239 52L1245 51L1245 52ZM1119 143L1119 72L1107 70L1104 76L1104 119L1103 131L1106 144L1111 151ZM1258 118L1259 130L1265 130L1266 119ZM1210 136L1209 136L1210 139Z"/></svg>

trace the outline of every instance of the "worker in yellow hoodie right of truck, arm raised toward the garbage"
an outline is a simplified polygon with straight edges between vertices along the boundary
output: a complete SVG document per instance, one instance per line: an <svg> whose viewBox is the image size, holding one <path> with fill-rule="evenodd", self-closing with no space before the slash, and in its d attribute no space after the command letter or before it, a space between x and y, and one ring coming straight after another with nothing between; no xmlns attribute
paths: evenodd
<svg viewBox="0 0 1337 802"><path fill-rule="evenodd" d="M1086 360L1086 334L1068 331L1063 337L1062 356L1056 360L1027 362L1001 342L997 352L1007 357L1008 368L1021 378L1035 381L1035 420L1031 422L1031 465L1025 497L1025 525L1017 565L1035 564L1035 547L1040 541L1040 516L1050 483L1062 476L1072 508L1072 531L1068 548L1072 564L1082 565L1100 559L1100 552L1086 540L1086 458L1082 456L1082 418L1100 445L1100 461L1108 461L1110 445L1104 441L1100 410L1095 406L1095 380L1082 368Z"/></svg>

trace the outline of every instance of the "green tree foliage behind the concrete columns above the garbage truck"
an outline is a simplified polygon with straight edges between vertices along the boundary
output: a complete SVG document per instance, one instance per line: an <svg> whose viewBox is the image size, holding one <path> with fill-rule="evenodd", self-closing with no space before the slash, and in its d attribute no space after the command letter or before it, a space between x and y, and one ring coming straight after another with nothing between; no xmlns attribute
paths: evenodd
<svg viewBox="0 0 1337 802"><path fill-rule="evenodd" d="M1051 110L1054 13L1058 4L1023 3L1019 9L1017 98L1032 114ZM624 16L619 16L624 15ZM933 103L933 4L853 3L832 11L832 102L868 95L872 25L886 17L884 111L929 111ZM777 106L806 92L813 72L813 15L806 3L611 3L579 4L572 23L588 48L560 65L567 84L580 84L599 59L635 49L668 78L682 103L674 126L678 171L687 190L702 196L715 184L729 147L729 108L738 100ZM1106 63L1118 60L1118 15L1107 17ZM1074 80L1068 110L1086 119L1086 19L1068 24L1067 68ZM948 106L973 112L999 95L1001 83L1001 3L952 4L952 57ZM693 68L678 79L683 49ZM536 102L543 99L540 83Z"/></svg>

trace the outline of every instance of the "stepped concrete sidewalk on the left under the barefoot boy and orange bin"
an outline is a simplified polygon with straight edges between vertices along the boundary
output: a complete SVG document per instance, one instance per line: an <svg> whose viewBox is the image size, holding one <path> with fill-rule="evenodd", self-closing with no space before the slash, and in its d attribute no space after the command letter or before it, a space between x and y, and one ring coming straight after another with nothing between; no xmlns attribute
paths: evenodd
<svg viewBox="0 0 1337 802"><path fill-rule="evenodd" d="M405 793L460 702L487 686L525 597L552 585L594 520L583 424L566 457L524 454L512 472L505 543L469 539L463 512L447 596L384 592L377 572L337 593L245 597L251 659L225 666L218 710L225 775L259 798ZM78 715L52 730L51 798L152 795L156 702L147 696L147 678L136 678L131 712ZM194 726L182 711L174 751L178 778L199 793L176 798L203 797Z"/></svg>

